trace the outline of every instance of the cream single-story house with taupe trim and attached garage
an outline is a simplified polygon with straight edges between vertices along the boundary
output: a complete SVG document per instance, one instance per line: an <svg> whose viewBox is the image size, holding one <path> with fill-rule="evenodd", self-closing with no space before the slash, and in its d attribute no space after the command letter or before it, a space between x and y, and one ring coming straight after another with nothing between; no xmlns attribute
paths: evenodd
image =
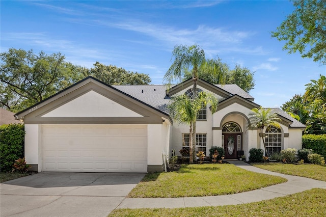
<svg viewBox="0 0 326 217"><path fill-rule="evenodd" d="M176 94L192 94L192 80L173 86L109 86L87 77L15 115L25 124L25 157L36 171L125 172L162 171L164 156L189 146L189 127L174 123L167 104ZM199 80L197 91L219 99L218 112L203 107L197 121L197 151L224 147L234 159L251 148L269 152L302 147L305 126L273 108L280 128L249 130L248 114L260 105L236 85Z"/></svg>

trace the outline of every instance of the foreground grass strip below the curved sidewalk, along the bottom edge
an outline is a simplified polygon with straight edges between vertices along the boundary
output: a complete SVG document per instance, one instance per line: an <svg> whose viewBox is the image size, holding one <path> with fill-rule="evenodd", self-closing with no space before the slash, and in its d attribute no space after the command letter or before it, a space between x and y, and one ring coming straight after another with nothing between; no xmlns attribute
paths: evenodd
<svg viewBox="0 0 326 217"><path fill-rule="evenodd" d="M108 216L326 216L326 189L309 191L260 202L192 208L116 209Z"/></svg>

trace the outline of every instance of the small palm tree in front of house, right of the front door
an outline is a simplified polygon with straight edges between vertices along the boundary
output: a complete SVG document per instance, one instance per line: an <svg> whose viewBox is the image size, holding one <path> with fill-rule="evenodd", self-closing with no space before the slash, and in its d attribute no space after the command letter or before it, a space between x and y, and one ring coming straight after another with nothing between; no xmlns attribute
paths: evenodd
<svg viewBox="0 0 326 217"><path fill-rule="evenodd" d="M280 127L277 121L281 120L277 117L276 113L273 113L270 108L253 108L252 113L249 114L248 128L260 128L265 148L265 156L268 156L268 152L265 145L265 139L263 137L263 130L267 126Z"/></svg>

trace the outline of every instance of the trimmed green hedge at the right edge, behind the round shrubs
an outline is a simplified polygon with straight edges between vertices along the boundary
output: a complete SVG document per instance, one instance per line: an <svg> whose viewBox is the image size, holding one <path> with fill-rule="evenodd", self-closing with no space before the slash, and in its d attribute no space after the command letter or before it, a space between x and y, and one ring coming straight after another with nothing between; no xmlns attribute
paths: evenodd
<svg viewBox="0 0 326 217"><path fill-rule="evenodd" d="M314 150L326 159L326 134L306 134L302 136L302 148Z"/></svg>

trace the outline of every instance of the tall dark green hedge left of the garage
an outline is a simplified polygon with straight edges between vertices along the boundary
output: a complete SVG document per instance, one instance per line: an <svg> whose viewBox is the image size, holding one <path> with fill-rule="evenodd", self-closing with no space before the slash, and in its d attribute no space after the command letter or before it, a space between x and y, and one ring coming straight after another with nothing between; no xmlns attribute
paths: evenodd
<svg viewBox="0 0 326 217"><path fill-rule="evenodd" d="M23 124L4 124L0 126L0 169L11 171L19 157L24 157Z"/></svg>

